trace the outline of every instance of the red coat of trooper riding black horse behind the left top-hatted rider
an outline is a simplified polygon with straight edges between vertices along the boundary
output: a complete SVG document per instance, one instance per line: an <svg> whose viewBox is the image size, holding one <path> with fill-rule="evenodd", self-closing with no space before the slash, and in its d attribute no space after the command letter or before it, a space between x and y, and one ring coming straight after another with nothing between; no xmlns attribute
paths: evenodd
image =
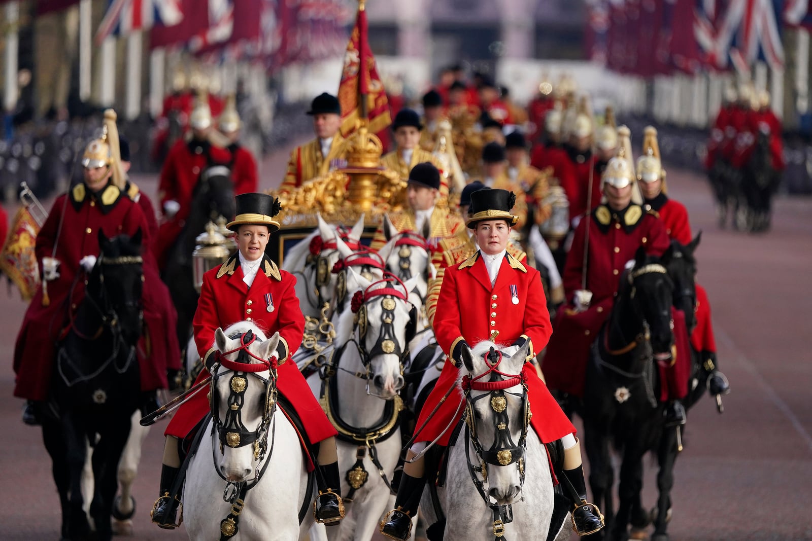
<svg viewBox="0 0 812 541"><path fill-rule="evenodd" d="M163 162L161 178L158 181L158 201L162 213L163 204L170 200L177 201L180 210L171 220L163 222L158 228L154 252L159 267L163 268L166 252L184 229L186 218L192 210L192 191L197 185L201 171L209 165L228 165L230 162L231 152L225 148L214 147L208 141L178 140L172 145L166 161Z"/></svg>

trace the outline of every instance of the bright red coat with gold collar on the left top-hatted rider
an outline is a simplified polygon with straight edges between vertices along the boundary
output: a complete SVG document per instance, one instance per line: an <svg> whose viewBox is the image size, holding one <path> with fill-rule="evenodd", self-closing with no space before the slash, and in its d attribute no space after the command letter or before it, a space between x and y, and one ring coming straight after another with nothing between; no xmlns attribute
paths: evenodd
<svg viewBox="0 0 812 541"><path fill-rule="evenodd" d="M225 330L231 324L251 320L266 331L266 336L270 337L279 331L287 354L284 359L279 359L277 389L296 410L310 442L317 443L335 436L337 432L316 397L313 397L313 392L296 363L290 360L292 352L299 348L304 334L304 316L299 308L295 287L296 277L279 270L266 255L257 277L248 288L243 281L239 256L235 253L226 263L203 275L201 297L197 302L192 328L197 353L203 359L214 352L214 331L218 327ZM267 310L266 294L270 294L273 311ZM208 376L209 372L204 369L197 377L197 382ZM167 436L183 438L208 413L206 389L202 389L179 408L175 418L166 427Z"/></svg>

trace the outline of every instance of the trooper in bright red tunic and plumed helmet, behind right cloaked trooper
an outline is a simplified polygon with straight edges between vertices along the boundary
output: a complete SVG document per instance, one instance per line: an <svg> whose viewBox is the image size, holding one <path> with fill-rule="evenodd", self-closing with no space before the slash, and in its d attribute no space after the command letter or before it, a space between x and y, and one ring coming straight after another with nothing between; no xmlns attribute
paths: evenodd
<svg viewBox="0 0 812 541"><path fill-rule="evenodd" d="M639 186L645 201L646 209L657 213L659 219L665 225L668 238L676 240L682 245L691 242L691 225L688 221L688 210L679 201L672 200L666 195L667 186L665 182L665 170L659 162L659 145L657 144L657 130L654 127L646 127L645 139L643 140L644 157L637 162L638 178L641 180ZM644 174L641 172L641 161L646 158L651 148L651 157L656 158L654 174ZM730 390L728 378L717 370L716 341L714 339L713 324L711 323L711 304L708 302L705 288L696 285L697 306L695 316L696 327L691 331L691 346L697 350L701 357L702 367L710 378L709 388L711 394L725 394Z"/></svg>

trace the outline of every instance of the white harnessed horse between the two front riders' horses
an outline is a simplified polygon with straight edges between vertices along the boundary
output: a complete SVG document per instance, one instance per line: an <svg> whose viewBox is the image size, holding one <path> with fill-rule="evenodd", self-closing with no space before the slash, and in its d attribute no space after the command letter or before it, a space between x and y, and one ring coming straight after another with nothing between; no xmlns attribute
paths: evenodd
<svg viewBox="0 0 812 541"><path fill-rule="evenodd" d="M347 516L338 527L326 528L326 535L331 541L367 541L388 508L387 482L391 483L400 457L397 414L402 402L398 391L404 384L402 360L414 313L407 291L416 278L401 285L391 277L381 284L370 282L352 267L344 272L347 294L337 307L336 353L326 368L332 376L325 391L328 416L339 430L336 443ZM320 397L321 378L311 376L308 383ZM386 480L379 471L386 474Z"/></svg>

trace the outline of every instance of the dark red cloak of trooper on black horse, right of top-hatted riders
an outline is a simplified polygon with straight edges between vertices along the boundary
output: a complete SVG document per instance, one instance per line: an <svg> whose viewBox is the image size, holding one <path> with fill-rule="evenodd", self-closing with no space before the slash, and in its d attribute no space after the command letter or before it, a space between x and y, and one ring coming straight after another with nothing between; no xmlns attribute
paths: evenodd
<svg viewBox="0 0 812 541"><path fill-rule="evenodd" d="M670 243L663 223L654 215L630 204L623 211L606 205L595 208L589 220L581 220L564 265L564 293L572 302L573 292L582 289L584 238L590 227L585 289L592 291L590 308L575 312L565 303L555 318L555 333L547 347L543 371L547 385L582 396L590 346L615 303L620 274L634 259L637 248L661 255Z"/></svg>

